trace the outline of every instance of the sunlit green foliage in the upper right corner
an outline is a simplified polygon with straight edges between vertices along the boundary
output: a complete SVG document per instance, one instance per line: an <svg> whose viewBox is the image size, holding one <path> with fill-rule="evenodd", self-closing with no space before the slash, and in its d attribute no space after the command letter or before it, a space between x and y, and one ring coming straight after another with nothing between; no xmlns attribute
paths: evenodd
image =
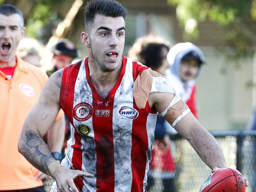
<svg viewBox="0 0 256 192"><path fill-rule="evenodd" d="M251 23L256 20L256 0L168 0L168 3L177 6L176 15L184 27L184 39L198 36L197 25L191 30L189 20L209 19L227 31L226 39L236 46L237 55L251 52L249 47L255 43Z"/></svg>

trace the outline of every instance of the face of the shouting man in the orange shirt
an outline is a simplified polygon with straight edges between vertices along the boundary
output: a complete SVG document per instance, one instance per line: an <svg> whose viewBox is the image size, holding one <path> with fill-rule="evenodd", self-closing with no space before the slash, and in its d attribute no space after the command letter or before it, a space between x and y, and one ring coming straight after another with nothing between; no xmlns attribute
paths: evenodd
<svg viewBox="0 0 256 192"><path fill-rule="evenodd" d="M24 34L25 28L21 26L19 14L0 14L0 62L8 63L15 59L17 47Z"/></svg>

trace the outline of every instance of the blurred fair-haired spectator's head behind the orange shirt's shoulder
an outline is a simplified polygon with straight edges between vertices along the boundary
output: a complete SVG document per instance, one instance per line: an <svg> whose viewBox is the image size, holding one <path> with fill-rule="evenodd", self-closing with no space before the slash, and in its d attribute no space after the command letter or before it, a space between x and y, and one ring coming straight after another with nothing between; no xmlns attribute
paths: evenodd
<svg viewBox="0 0 256 192"><path fill-rule="evenodd" d="M37 67L41 67L41 53L44 51L43 45L41 45L36 39L23 38L20 40L17 55L23 60Z"/></svg>

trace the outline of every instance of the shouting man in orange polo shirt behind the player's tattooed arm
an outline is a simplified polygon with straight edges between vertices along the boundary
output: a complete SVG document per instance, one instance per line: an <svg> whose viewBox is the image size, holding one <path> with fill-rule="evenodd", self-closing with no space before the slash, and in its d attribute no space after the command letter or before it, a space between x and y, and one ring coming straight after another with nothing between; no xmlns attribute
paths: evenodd
<svg viewBox="0 0 256 192"><path fill-rule="evenodd" d="M39 68L22 61L16 55L17 46L24 34L24 20L20 10L11 5L1 5L0 191L43 192L45 190L41 179L47 175L36 170L17 148L24 120L48 79ZM63 111L52 123L48 132L48 146L58 156L64 139Z"/></svg>

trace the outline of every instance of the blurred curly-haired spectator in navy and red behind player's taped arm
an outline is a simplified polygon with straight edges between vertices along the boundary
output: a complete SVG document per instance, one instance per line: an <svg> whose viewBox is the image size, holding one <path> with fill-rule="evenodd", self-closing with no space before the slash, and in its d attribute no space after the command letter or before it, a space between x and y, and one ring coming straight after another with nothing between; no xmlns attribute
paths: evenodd
<svg viewBox="0 0 256 192"><path fill-rule="evenodd" d="M169 67L167 61L169 49L169 43L161 37L147 35L137 39L128 55L164 76L165 70ZM149 192L175 192L174 174L176 166L172 157L171 140L164 122L165 119L158 114L154 133L154 150L149 164L146 186ZM162 180L162 187L157 184L159 183L156 182L157 180Z"/></svg>

